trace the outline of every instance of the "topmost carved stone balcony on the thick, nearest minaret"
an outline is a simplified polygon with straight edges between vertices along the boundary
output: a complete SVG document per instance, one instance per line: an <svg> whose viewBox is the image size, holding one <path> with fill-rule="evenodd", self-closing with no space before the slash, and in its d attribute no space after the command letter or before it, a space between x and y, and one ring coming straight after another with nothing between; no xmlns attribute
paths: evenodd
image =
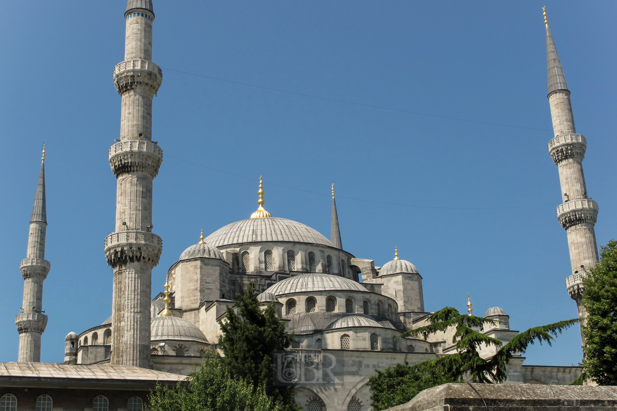
<svg viewBox="0 0 617 411"><path fill-rule="evenodd" d="M147 60L128 60L118 63L114 68L114 84L120 94L142 86L151 89L154 95L159 91L162 82L163 71Z"/></svg>

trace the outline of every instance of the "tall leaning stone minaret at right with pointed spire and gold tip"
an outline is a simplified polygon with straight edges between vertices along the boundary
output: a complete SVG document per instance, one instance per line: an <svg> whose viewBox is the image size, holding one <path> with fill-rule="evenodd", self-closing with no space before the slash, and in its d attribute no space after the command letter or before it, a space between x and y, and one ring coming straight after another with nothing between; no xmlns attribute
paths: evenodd
<svg viewBox="0 0 617 411"><path fill-rule="evenodd" d="M546 52L549 76L550 114L553 118L555 138L549 142L550 157L559 170L563 204L557 207L557 218L568 233L568 248L572 273L566 279L568 293L578 306L581 326L587 316L581 305L582 277L598 262L594 225L598 216L598 204L587 198L582 160L585 157L587 140L576 134L574 115L570 104L570 92L561 70L549 22L544 9L546 26ZM584 341L583 341L584 343Z"/></svg>

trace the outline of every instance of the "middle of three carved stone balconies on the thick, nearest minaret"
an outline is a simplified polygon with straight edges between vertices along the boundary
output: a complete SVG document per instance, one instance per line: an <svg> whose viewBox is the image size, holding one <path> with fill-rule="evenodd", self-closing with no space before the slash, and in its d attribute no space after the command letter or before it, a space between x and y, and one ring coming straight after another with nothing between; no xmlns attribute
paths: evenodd
<svg viewBox="0 0 617 411"><path fill-rule="evenodd" d="M146 140L121 141L109 149L109 164L116 177L124 173L143 172L154 178L162 161L163 150Z"/></svg>

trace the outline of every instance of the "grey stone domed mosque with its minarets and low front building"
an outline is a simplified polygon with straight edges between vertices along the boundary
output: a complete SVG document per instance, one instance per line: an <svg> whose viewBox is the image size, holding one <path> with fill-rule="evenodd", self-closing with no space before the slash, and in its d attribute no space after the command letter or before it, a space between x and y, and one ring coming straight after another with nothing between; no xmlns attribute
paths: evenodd
<svg viewBox="0 0 617 411"><path fill-rule="evenodd" d="M40 361L41 334L48 318L42 311L45 259L44 152L30 224L24 278L18 362L0 364L0 411L72 407L80 410L141 411L147 389L174 383L217 348L236 293L249 283L262 307L275 304L294 332L289 348L297 364L313 371L294 373L296 402L309 411L370 409L366 385L375 370L397 363L416 364L452 354L452 333L411 338L400 335L426 324L420 271L399 257L376 266L342 246L334 185L329 238L301 222L271 216L265 210L260 179L257 210L189 246L168 270L165 291L154 299L151 271L159 262L161 238L152 232L152 181L159 173L162 149L152 141L152 99L162 70L152 60L151 0L128 0L125 12L125 61L114 69L122 96L120 138L109 151L117 177L115 231L104 251L114 269L112 315L65 338L64 364ZM549 101L555 137L549 152L558 165L563 204L557 213L568 233L573 272L566 283L579 306L581 275L597 262L594 224L597 204L587 198L582 174L586 140L576 134L569 91L545 14ZM163 285L155 285L162 287ZM473 315L470 299L468 312ZM499 320L484 330L506 343L518 332L499 307L482 314ZM68 330L67 330L68 331ZM485 349L484 357L494 351ZM540 367L518 356L508 366L508 384L571 383L579 367ZM282 380L286 377L282 376ZM17 381L17 382L15 382ZM24 389L25 388L25 389ZM75 394L78 393L78 394Z"/></svg>

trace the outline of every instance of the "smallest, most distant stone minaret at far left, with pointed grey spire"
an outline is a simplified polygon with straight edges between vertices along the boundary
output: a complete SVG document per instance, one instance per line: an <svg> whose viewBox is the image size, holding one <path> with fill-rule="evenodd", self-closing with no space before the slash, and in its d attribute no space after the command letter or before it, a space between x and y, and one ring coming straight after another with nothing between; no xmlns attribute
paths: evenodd
<svg viewBox="0 0 617 411"><path fill-rule="evenodd" d="M36 186L35 205L30 219L28 254L20 262L23 277L22 314L15 317L19 332L19 362L41 361L41 335L47 326L47 315L43 314L43 280L49 272L49 261L45 259L45 233L47 210L45 206L45 147L41 158L41 174Z"/></svg>

